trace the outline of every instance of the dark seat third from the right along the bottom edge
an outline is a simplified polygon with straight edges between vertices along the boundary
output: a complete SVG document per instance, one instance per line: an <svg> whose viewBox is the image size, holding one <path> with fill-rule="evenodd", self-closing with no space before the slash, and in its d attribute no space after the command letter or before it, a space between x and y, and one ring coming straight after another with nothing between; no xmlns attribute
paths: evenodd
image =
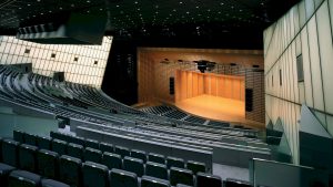
<svg viewBox="0 0 333 187"><path fill-rule="evenodd" d="M184 184L189 186L193 186L193 173L192 170L184 169L184 168L178 168L178 167L171 167L170 168L170 183L172 186L175 186L176 184Z"/></svg>

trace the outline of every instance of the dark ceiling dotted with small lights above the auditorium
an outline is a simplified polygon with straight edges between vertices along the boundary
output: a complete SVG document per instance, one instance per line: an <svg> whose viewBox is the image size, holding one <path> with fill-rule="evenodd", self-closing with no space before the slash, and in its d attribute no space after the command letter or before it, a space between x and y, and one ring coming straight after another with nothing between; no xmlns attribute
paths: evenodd
<svg viewBox="0 0 333 187"><path fill-rule="evenodd" d="M105 34L139 45L262 49L264 28L299 0L2 0L0 34L62 12L107 11Z"/></svg>

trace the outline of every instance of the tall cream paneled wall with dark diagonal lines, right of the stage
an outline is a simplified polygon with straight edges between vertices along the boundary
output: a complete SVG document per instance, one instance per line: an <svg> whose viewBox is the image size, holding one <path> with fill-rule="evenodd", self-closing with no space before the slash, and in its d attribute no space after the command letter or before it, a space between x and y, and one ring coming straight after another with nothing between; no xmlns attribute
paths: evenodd
<svg viewBox="0 0 333 187"><path fill-rule="evenodd" d="M333 135L332 28L333 0L303 0L264 31L266 124L282 118L295 164L302 104ZM297 81L301 54L304 82Z"/></svg>

